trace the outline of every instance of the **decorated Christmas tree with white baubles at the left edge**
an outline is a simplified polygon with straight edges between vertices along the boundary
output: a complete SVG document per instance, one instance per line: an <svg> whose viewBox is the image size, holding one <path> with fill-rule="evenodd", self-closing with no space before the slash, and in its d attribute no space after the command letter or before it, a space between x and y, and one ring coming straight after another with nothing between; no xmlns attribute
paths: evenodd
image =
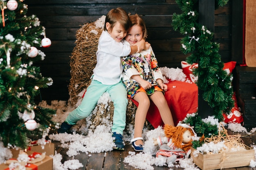
<svg viewBox="0 0 256 170"><path fill-rule="evenodd" d="M33 63L44 60L40 47L51 45L36 15L27 16L23 0L0 0L0 141L26 148L29 138L43 138L55 110L36 106L40 88L52 85Z"/></svg>

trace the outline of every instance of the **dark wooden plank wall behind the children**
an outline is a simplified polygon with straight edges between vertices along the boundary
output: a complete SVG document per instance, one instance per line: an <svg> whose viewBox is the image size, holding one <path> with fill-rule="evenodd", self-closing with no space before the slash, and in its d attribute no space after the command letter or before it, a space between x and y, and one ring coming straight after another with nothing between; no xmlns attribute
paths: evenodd
<svg viewBox="0 0 256 170"><path fill-rule="evenodd" d="M237 0L236 0L237 1ZM35 14L46 28L52 46L41 49L46 57L40 66L45 77L54 84L41 89L39 100L68 100L69 60L75 46L76 31L81 25L106 15L112 8L122 7L131 14L143 15L150 42L159 66L180 67L186 56L180 52L182 36L172 28L173 13L180 13L175 0L26 0L28 15ZM233 7L234 8L234 7ZM215 11L215 40L220 43L223 62L232 59L232 1Z"/></svg>

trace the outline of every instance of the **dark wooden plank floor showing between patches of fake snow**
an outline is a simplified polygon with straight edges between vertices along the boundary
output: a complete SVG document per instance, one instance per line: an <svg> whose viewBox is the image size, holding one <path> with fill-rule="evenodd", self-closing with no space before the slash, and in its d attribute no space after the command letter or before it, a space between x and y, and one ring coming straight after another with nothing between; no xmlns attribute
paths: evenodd
<svg viewBox="0 0 256 170"><path fill-rule="evenodd" d="M230 130L228 130L229 135L237 135ZM243 139L244 143L247 146L255 145L256 141L256 132L252 135L247 135L245 132L239 133ZM134 152L130 144L126 144L124 151L112 150L111 152L101 152L101 153L91 153L86 154L80 152L79 155L74 157L68 157L66 152L68 149L63 149L60 146L59 141L52 141L55 144L56 151L63 156L62 163L70 159L78 159L80 163L83 164L82 168L78 170L137 170L132 166L129 166L128 163L124 163L124 158L127 157L129 151ZM139 162L139 161L138 161ZM167 166L154 166L155 170L169 170ZM183 170L183 168L172 167L172 170ZM238 168L228 168L222 170L256 170L256 168L251 167L238 167Z"/></svg>

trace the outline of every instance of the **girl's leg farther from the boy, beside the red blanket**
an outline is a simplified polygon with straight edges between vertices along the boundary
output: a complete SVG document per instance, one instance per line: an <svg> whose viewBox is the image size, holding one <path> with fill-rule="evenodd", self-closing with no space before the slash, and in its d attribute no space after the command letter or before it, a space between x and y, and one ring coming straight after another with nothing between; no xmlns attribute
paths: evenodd
<svg viewBox="0 0 256 170"><path fill-rule="evenodd" d="M164 124L174 126L173 116L164 94L161 91L157 91L154 94L149 95L149 98L154 102L155 106L157 106Z"/></svg>

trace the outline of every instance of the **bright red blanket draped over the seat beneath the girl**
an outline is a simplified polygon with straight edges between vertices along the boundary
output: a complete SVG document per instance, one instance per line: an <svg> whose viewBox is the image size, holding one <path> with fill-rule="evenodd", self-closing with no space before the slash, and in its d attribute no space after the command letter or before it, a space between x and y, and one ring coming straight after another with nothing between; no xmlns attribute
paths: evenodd
<svg viewBox="0 0 256 170"><path fill-rule="evenodd" d="M180 81L170 81L168 90L164 97L170 107L175 126L182 121L188 113L195 113L198 108L198 87L195 83L186 83ZM132 99L132 102L138 106L138 102ZM154 128L164 126L159 110L153 102L150 104L146 119Z"/></svg>

